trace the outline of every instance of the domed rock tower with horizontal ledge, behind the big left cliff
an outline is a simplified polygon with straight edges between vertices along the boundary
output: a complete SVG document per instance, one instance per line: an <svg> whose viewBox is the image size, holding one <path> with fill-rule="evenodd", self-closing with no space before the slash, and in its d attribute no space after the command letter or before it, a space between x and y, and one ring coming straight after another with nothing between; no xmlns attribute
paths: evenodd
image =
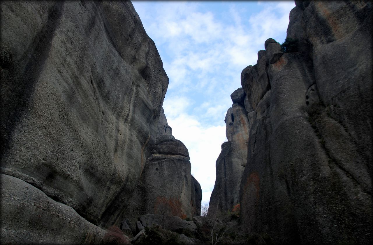
<svg viewBox="0 0 373 245"><path fill-rule="evenodd" d="M189 152L172 136L163 108L156 145L151 151L125 216L131 224L147 214L189 217L200 215L202 190L191 175Z"/></svg>

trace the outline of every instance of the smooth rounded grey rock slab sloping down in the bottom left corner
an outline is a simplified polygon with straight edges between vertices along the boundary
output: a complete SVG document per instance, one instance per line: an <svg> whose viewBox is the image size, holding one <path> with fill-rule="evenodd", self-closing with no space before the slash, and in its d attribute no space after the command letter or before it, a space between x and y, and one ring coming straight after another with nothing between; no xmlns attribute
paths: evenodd
<svg viewBox="0 0 373 245"><path fill-rule="evenodd" d="M102 244L105 230L27 182L1 174L2 244Z"/></svg>

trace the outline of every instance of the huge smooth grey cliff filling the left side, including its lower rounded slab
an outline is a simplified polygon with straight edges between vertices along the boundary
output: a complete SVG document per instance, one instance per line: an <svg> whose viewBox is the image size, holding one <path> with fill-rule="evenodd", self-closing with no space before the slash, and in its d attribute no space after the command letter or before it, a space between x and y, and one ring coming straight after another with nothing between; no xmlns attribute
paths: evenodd
<svg viewBox="0 0 373 245"><path fill-rule="evenodd" d="M131 2L2 1L0 58L2 242L118 225L168 86ZM43 232L64 217L77 225Z"/></svg>

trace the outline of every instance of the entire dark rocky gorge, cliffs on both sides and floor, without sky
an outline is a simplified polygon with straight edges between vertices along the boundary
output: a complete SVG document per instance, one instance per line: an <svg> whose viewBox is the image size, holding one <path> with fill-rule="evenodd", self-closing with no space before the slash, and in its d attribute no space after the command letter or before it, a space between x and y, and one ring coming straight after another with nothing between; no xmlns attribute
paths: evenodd
<svg viewBox="0 0 373 245"><path fill-rule="evenodd" d="M207 212L131 1L1 1L1 243L373 242L372 3L295 5L232 91Z"/></svg>

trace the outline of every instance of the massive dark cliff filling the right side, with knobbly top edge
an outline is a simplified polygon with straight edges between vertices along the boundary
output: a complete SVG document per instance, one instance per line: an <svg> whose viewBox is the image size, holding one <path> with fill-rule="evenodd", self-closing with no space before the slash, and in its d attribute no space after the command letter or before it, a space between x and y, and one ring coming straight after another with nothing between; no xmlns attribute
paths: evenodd
<svg viewBox="0 0 373 245"><path fill-rule="evenodd" d="M240 218L278 243L372 242L372 3L301 1L242 71ZM251 110L251 112L250 112Z"/></svg>

